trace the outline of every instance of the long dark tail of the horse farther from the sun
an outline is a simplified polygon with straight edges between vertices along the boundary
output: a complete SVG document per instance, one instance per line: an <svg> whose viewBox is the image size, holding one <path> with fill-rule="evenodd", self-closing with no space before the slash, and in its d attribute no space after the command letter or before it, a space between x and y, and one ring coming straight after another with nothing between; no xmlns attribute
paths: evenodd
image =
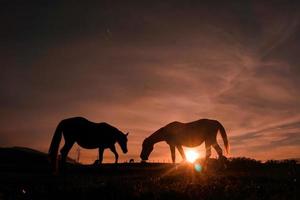
<svg viewBox="0 0 300 200"><path fill-rule="evenodd" d="M56 130L54 132L51 144L50 144L50 148L49 148L49 152L48 152L48 157L50 159L50 163L53 167L53 169L56 171L57 170L57 156L58 156L58 149L59 149L59 144L62 138L62 132L63 132L63 123L60 122L57 127Z"/></svg>

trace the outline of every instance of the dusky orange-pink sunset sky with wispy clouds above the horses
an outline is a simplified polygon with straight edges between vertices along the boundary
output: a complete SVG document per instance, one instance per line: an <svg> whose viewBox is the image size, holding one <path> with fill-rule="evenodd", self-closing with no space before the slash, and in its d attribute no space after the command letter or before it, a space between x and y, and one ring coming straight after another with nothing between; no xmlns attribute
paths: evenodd
<svg viewBox="0 0 300 200"><path fill-rule="evenodd" d="M210 118L230 157L300 157L299 1L20 0L0 11L1 147L47 152L57 124L82 116L130 132L128 154L117 151L138 161L160 127ZM81 162L96 158L81 149ZM168 145L149 159L170 161Z"/></svg>

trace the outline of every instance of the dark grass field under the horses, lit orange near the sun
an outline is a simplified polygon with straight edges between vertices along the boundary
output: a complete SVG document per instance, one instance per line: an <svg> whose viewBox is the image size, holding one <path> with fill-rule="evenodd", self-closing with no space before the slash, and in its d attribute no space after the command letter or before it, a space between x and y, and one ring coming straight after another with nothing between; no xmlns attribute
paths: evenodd
<svg viewBox="0 0 300 200"><path fill-rule="evenodd" d="M2 164L0 199L299 199L299 165L233 160L209 162L69 165L53 176L43 165Z"/></svg>

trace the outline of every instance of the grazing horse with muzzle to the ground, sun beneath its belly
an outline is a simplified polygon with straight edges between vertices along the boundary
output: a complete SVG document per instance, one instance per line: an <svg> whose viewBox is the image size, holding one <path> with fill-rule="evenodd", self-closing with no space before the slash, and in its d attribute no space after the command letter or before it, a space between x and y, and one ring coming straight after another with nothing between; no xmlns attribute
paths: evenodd
<svg viewBox="0 0 300 200"><path fill-rule="evenodd" d="M143 142L141 152L142 161L148 160L155 143L165 141L169 144L172 161L175 163L175 147L178 149L183 160L186 159L182 146L196 147L205 142L206 160L211 156L211 146L217 151L219 158L223 156L221 147L217 143L217 133L220 131L228 153L228 139L222 124L216 120L200 119L189 123L172 122L160 128Z"/></svg>

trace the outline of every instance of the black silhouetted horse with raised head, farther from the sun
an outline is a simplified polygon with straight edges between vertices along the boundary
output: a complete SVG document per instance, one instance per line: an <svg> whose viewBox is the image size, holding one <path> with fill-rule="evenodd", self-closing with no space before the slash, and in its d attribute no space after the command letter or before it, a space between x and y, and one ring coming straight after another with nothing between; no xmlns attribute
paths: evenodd
<svg viewBox="0 0 300 200"><path fill-rule="evenodd" d="M57 170L57 156L62 135L65 139L65 144L60 150L62 164L66 162L67 155L75 142L86 149L98 148L100 163L102 163L103 151L106 148L115 154L115 162L118 162L116 142L119 143L123 153L127 153L128 133L124 134L104 122L94 123L82 117L68 118L58 124L49 148L49 158L55 171Z"/></svg>

